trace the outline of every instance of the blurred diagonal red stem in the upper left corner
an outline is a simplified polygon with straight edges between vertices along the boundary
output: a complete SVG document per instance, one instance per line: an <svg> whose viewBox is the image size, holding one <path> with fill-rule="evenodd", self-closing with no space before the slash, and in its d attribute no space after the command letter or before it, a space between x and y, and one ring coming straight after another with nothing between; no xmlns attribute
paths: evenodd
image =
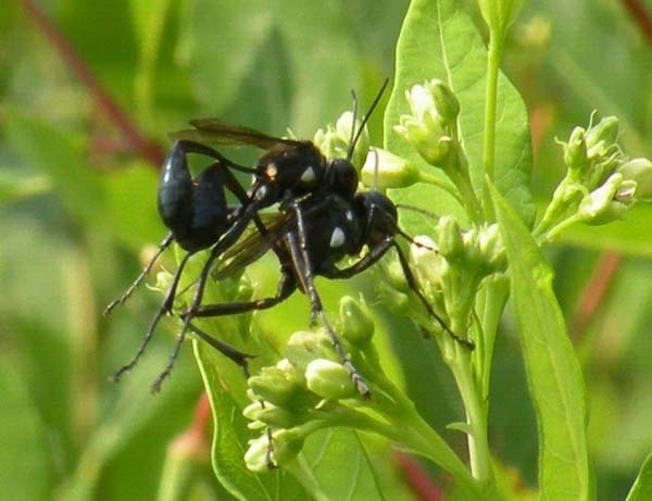
<svg viewBox="0 0 652 501"><path fill-rule="evenodd" d="M161 165L163 153L160 148L145 139L120 105L102 88L101 84L92 75L88 66L77 55L72 45L50 22L43 11L33 0L21 0L21 3L29 18L46 36L61 59L86 86L88 92L92 96L100 109L100 112L121 130L129 148L138 151L142 158L149 160L149 162L156 167Z"/></svg>

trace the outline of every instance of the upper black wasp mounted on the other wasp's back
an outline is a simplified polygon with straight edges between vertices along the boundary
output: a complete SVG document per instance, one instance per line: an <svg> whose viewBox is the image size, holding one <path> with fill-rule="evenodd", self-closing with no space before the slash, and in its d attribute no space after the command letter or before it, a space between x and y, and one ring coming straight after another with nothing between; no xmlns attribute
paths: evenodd
<svg viewBox="0 0 652 501"><path fill-rule="evenodd" d="M379 98L380 93L371 110L377 104ZM172 371L188 328L234 361L243 363L243 354L208 337L192 326L190 321L195 311L199 309L215 260L238 240L251 222L255 224L261 235L267 234L266 227L259 217L259 211L319 191L335 191L352 197L358 186L358 172L351 165L350 159L326 159L312 141L272 137L251 128L228 126L214 120L197 120L191 121L190 124L193 126L192 129L175 135L177 140L163 162L159 181L159 213L170 233L134 284L105 310L106 314L110 313L134 292L155 260L173 241L187 251L136 355L115 373L114 379L118 379L136 365L151 340L159 321L165 313L172 311L179 278L188 259L200 250L211 248L209 259L197 280L190 308L184 315L184 326L173 354L152 386L154 391ZM352 137L351 145L358 140L363 127L364 124L358 135ZM265 150L265 153L259 159L255 167L249 168L230 162L208 143L250 145ZM187 163L187 155L191 153L213 160L213 163L196 178L191 177ZM252 185L248 191L244 191L231 170L252 174ZM226 190L236 196L239 205L227 205ZM285 251L275 250L281 263L290 259ZM240 310L235 309L234 312L236 311Z"/></svg>

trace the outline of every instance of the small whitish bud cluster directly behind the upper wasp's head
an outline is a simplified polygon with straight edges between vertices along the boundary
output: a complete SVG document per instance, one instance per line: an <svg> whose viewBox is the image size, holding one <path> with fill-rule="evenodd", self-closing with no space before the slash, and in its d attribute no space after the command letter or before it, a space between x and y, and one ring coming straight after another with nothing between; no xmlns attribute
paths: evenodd
<svg viewBox="0 0 652 501"><path fill-rule="evenodd" d="M354 121L353 113L346 111L337 120L335 127L329 124L326 130L318 129L313 137L313 142L327 158L346 159L351 139L353 139L360 126L360 121ZM353 148L351 163L358 168L362 167L368 150L369 135L365 127Z"/></svg>

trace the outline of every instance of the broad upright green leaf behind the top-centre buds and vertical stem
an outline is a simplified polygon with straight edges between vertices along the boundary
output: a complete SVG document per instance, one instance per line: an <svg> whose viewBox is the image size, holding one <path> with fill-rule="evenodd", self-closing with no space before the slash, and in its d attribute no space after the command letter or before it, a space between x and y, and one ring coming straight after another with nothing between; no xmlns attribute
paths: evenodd
<svg viewBox="0 0 652 501"><path fill-rule="evenodd" d="M482 185L482 136L487 52L474 23L455 0L415 0L411 3L397 46L397 73L385 113L385 148L415 162L424 172L443 177L393 131L401 114L409 112L405 90L431 78L440 78L461 103L461 140L468 156L476 191ZM531 166L527 114L521 96L504 75L499 76L496 128L496 185L523 221L530 222L534 205L528 188ZM437 213L462 215L459 204L431 186L415 185L392 190L398 201ZM402 226L427 231L423 217L405 214ZM421 220L421 221L419 221Z"/></svg>

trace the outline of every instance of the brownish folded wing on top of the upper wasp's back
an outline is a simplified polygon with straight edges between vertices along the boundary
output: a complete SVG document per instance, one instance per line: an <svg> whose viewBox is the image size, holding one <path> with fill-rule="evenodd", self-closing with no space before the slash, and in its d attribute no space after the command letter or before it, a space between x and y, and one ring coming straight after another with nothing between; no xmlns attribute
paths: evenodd
<svg viewBox="0 0 652 501"><path fill-rule="evenodd" d="M191 120L190 125L195 128L173 133L170 135L171 138L213 145L248 145L263 150L294 147L301 143L294 139L268 136L250 127L224 124L215 118Z"/></svg>

